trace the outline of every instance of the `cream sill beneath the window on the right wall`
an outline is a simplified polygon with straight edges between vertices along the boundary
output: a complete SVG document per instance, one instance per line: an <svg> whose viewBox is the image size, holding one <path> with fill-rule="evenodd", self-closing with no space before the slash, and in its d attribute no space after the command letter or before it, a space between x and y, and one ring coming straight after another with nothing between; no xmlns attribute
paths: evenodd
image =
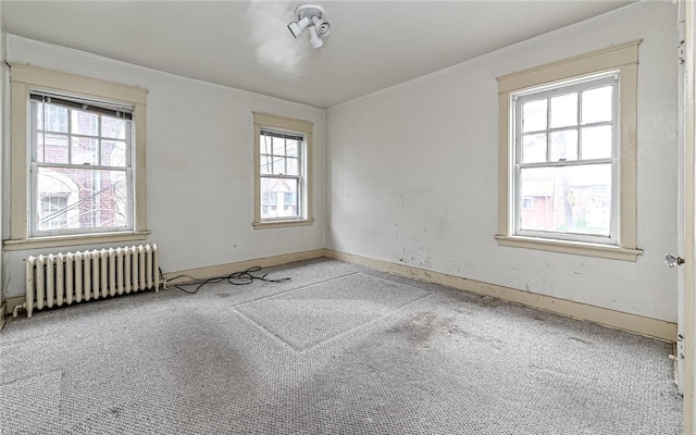
<svg viewBox="0 0 696 435"><path fill-rule="evenodd" d="M500 246L538 249L543 251L572 253L576 256L598 257L611 260L636 261L636 258L643 253L642 249L630 249L618 246L587 244L582 241L500 235L495 236L495 238L498 240L498 245Z"/></svg>

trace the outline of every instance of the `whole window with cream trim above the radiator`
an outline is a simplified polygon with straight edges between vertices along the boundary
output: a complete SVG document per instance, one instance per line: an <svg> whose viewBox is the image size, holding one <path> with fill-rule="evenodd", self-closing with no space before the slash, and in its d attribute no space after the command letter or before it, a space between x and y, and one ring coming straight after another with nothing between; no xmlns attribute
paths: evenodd
<svg viewBox="0 0 696 435"><path fill-rule="evenodd" d="M5 249L144 239L146 91L25 65L10 79Z"/></svg>

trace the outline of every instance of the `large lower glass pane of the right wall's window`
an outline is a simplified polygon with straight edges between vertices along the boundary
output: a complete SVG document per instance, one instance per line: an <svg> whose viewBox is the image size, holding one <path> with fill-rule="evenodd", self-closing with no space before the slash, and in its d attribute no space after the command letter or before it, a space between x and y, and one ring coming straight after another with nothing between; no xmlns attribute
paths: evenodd
<svg viewBox="0 0 696 435"><path fill-rule="evenodd" d="M611 164L522 169L518 197L520 229L610 235Z"/></svg>

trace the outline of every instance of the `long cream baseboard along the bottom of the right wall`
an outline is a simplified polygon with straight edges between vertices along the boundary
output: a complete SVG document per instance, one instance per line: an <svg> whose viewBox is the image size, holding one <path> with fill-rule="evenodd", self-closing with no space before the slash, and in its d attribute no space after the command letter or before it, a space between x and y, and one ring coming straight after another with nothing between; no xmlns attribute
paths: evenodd
<svg viewBox="0 0 696 435"><path fill-rule="evenodd" d="M658 338L664 341L673 343L676 339L676 324L671 322L574 302L572 300L522 291L510 287L469 279L461 276L448 275L440 272L427 271L406 264L376 260L353 253L335 251L332 249L324 249L324 257L364 265L370 269L393 273L395 275L439 284L459 290L490 296L497 299L550 311L573 319L598 323L600 325L645 335L651 338Z"/></svg>

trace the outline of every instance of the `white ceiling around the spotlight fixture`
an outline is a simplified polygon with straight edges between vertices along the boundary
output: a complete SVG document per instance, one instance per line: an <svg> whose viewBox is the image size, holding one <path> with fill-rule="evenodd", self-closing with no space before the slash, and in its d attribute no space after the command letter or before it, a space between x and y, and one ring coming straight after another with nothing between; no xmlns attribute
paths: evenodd
<svg viewBox="0 0 696 435"><path fill-rule="evenodd" d="M7 1L8 33L328 108L632 1L315 1L332 34L286 25L304 1Z"/></svg>

